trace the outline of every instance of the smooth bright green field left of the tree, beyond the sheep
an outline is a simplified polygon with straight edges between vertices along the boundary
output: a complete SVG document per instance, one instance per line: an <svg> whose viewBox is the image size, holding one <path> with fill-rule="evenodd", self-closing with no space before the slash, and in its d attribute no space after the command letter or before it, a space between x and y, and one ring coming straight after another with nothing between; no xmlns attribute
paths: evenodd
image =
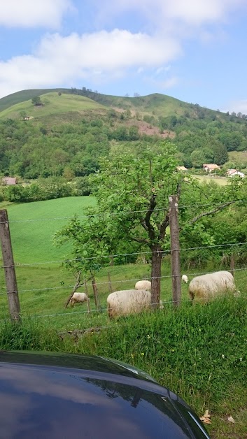
<svg viewBox="0 0 247 439"><path fill-rule="evenodd" d="M62 259L64 249L52 245L52 236L61 229L74 214L83 215L83 209L94 206L89 196L69 197L34 203L8 206L8 219L17 263L54 261Z"/></svg>

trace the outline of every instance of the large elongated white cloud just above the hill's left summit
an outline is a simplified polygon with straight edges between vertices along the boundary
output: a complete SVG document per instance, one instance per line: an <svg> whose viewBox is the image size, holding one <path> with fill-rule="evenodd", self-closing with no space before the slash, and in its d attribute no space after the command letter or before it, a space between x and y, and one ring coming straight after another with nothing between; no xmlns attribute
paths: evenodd
<svg viewBox="0 0 247 439"><path fill-rule="evenodd" d="M181 52L172 38L115 29L45 36L33 55L0 62L0 96L20 89L74 85L76 79L119 77L129 69L161 66Z"/></svg>

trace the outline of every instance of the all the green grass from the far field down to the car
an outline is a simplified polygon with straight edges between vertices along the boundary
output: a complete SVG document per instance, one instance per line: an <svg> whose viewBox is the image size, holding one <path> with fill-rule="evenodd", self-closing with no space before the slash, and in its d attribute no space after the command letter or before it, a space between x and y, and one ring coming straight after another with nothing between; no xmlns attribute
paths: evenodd
<svg viewBox="0 0 247 439"><path fill-rule="evenodd" d="M95 309L90 282L87 287L92 312L87 313L85 304L65 309L75 278L59 261L70 249L55 247L52 236L69 217L75 213L82 216L85 207L94 203L92 197L74 197L7 206L22 324L13 326L8 321L1 270L0 349L99 354L127 361L176 391L198 415L208 409L212 438L247 438L246 271L235 273L240 298L220 298L208 305L192 306L188 286L183 285L182 305L174 309L169 303L169 259L164 258L164 310L110 321L106 314L110 288L133 288L137 279L150 276L149 264L113 265L103 268L96 277L101 310ZM195 270L188 272L191 278ZM85 329L91 330L84 336L67 333ZM229 416L235 424L227 421Z"/></svg>

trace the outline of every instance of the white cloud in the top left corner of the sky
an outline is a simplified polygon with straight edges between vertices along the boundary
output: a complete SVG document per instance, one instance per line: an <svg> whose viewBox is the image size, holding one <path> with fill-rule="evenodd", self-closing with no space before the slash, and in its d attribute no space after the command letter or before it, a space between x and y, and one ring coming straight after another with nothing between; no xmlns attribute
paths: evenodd
<svg viewBox="0 0 247 439"><path fill-rule="evenodd" d="M71 0L1 0L0 26L57 29Z"/></svg>

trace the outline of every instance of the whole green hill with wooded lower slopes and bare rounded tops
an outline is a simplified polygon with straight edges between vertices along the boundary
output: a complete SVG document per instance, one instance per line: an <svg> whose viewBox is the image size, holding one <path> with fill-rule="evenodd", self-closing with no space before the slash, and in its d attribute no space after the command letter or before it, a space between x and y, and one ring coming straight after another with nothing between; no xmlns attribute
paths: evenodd
<svg viewBox="0 0 247 439"><path fill-rule="evenodd" d="M42 105L31 103L35 96ZM187 168L214 162L246 170L246 115L163 94L108 96L85 87L24 90L0 99L0 173L5 175L85 178L112 148L136 150L164 139L176 144L178 164Z"/></svg>

